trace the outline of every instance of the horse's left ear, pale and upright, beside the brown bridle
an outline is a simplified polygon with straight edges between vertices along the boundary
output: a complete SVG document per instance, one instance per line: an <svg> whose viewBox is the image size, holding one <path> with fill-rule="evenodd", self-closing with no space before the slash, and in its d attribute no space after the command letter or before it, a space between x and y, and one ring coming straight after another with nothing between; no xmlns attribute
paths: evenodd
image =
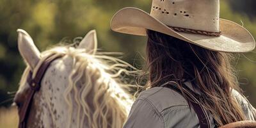
<svg viewBox="0 0 256 128"><path fill-rule="evenodd" d="M18 48L22 58L29 64L29 67L33 70L38 61L40 60L40 51L34 44L31 36L22 30L17 29L18 32Z"/></svg>

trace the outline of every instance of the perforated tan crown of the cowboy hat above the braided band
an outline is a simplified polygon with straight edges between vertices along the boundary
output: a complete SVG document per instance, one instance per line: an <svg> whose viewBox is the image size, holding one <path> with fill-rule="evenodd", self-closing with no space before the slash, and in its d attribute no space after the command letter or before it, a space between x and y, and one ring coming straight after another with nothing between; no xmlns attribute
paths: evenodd
<svg viewBox="0 0 256 128"><path fill-rule="evenodd" d="M150 15L171 27L220 31L220 0L153 0Z"/></svg>

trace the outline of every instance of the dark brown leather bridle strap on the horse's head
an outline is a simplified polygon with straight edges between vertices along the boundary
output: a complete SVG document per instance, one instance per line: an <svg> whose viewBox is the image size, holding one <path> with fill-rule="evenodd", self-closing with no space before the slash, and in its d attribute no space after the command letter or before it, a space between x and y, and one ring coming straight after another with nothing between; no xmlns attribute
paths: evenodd
<svg viewBox="0 0 256 128"><path fill-rule="evenodd" d="M64 56L63 54L52 54L51 56L48 56L38 68L35 78L32 78L33 72L32 71L29 72L28 79L27 79L27 82L29 84L29 90L27 92L28 99L26 99L24 104L22 104L21 108L19 108L19 128L26 127L26 122L28 120L28 115L29 115L28 109L31 107L31 102L33 101L33 97L35 93L40 90L41 81L44 77L44 74L47 68L52 63L52 61L58 58L61 58L63 56Z"/></svg>

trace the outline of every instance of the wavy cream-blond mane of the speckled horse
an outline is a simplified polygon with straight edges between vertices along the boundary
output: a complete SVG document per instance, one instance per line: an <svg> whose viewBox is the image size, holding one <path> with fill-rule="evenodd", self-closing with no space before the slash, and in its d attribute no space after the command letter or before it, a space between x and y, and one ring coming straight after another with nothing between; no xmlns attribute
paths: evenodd
<svg viewBox="0 0 256 128"><path fill-rule="evenodd" d="M88 51L87 51L88 52ZM35 77L40 63L52 54L65 54L72 58L72 72L68 77L68 86L63 93L65 102L68 104L67 127L72 123L72 113L77 113L79 127L113 127L120 128L127 119L131 109L132 96L126 92L129 81L120 76L131 74L127 68L133 68L128 63L117 58L97 52L87 54L86 49L58 46L42 52L33 77ZM64 56L64 57L65 57ZM20 83L25 83L29 72L26 68ZM91 102L88 102L90 101ZM74 109L76 106L77 109ZM113 119L113 120L111 120Z"/></svg>

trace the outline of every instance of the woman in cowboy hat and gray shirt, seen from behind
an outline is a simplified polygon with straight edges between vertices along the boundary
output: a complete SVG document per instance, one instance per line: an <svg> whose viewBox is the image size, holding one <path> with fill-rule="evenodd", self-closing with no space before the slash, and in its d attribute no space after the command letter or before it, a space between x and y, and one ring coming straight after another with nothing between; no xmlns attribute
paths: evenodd
<svg viewBox="0 0 256 128"><path fill-rule="evenodd" d="M115 14L111 29L148 36L149 89L124 127L219 127L256 119L228 53L252 51L255 40L219 13L219 0L153 0L150 14L138 8Z"/></svg>

